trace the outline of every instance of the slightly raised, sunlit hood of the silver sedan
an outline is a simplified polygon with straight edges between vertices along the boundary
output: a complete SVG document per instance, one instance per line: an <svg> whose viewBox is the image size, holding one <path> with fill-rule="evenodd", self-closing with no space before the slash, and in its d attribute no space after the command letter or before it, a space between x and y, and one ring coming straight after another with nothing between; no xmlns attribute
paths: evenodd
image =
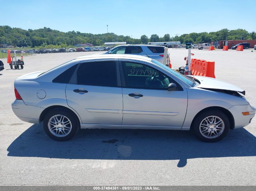
<svg viewBox="0 0 256 191"><path fill-rule="evenodd" d="M200 81L200 84L196 86L197 88L231 90L231 91L238 91L242 94L245 94L245 91L243 89L238 88L237 86L222 80L204 77L204 76L194 76L194 75L190 75L190 76Z"/></svg>

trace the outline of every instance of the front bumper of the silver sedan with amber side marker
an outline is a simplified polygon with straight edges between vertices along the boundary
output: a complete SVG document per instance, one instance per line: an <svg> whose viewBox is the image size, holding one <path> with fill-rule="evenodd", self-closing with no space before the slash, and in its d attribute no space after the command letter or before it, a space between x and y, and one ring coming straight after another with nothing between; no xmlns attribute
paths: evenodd
<svg viewBox="0 0 256 191"><path fill-rule="evenodd" d="M255 116L256 108L251 105L235 105L229 109L234 117L234 129L238 129L251 123ZM243 115L242 112L249 112L249 115Z"/></svg>

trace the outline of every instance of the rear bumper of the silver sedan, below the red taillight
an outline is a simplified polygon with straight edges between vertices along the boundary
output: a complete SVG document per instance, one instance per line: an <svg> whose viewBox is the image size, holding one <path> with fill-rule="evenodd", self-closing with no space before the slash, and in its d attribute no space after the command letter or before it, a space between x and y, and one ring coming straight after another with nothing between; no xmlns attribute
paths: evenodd
<svg viewBox="0 0 256 191"><path fill-rule="evenodd" d="M39 117L45 108L25 105L23 100L15 100L12 103L13 113L22 121L39 124Z"/></svg>

